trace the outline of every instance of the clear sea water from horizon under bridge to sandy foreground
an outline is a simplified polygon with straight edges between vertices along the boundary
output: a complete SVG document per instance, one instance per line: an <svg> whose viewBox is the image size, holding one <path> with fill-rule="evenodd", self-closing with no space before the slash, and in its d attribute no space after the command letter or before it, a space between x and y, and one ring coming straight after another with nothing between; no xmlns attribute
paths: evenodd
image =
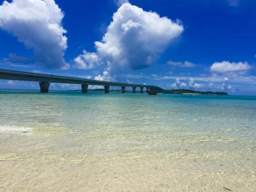
<svg viewBox="0 0 256 192"><path fill-rule="evenodd" d="M256 191L256 97L0 90L1 191Z"/></svg>

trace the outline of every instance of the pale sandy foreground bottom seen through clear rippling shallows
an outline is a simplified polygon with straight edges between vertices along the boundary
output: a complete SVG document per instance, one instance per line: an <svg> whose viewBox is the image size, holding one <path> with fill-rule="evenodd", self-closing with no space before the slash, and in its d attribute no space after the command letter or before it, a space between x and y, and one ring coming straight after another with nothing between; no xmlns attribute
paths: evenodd
<svg viewBox="0 0 256 192"><path fill-rule="evenodd" d="M0 138L1 191L256 189L253 140L30 131Z"/></svg>

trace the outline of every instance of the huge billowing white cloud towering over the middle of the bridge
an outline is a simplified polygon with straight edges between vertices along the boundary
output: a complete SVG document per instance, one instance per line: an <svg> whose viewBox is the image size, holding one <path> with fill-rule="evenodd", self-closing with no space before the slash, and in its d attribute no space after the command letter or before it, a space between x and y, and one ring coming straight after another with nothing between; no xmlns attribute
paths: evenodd
<svg viewBox="0 0 256 192"><path fill-rule="evenodd" d="M124 3L102 41L95 42L96 54L108 71L147 68L183 30L179 21Z"/></svg>

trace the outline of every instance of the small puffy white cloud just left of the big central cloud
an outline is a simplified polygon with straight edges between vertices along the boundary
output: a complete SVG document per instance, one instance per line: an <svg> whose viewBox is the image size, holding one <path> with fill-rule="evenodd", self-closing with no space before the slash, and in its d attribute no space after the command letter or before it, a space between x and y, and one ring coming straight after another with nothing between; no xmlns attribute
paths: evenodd
<svg viewBox="0 0 256 192"><path fill-rule="evenodd" d="M91 69L97 65L100 65L100 58L95 52L84 51L74 59L76 68Z"/></svg>

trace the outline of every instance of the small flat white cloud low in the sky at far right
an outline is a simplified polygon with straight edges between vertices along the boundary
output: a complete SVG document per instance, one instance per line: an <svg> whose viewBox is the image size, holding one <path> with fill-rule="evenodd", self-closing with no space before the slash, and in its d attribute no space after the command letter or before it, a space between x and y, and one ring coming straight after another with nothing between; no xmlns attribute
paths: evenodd
<svg viewBox="0 0 256 192"><path fill-rule="evenodd" d="M215 62L211 65L211 72L220 74L244 74L252 68L247 62L231 63L229 61Z"/></svg>

